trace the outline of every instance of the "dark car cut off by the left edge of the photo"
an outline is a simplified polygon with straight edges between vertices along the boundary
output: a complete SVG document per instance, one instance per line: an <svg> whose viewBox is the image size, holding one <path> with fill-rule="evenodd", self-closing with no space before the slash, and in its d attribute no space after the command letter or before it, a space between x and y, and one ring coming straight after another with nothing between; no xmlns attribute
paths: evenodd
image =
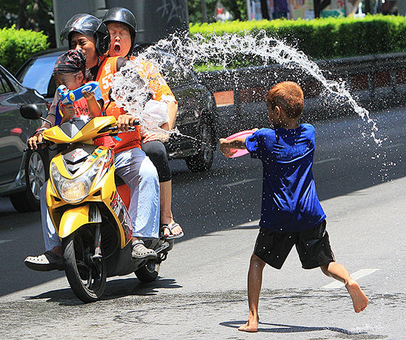
<svg viewBox="0 0 406 340"><path fill-rule="evenodd" d="M20 212L40 208L40 187L47 179L45 154L23 151L41 124L21 117L19 106L23 103L37 104L46 115L43 96L0 66L0 196L9 196Z"/></svg>

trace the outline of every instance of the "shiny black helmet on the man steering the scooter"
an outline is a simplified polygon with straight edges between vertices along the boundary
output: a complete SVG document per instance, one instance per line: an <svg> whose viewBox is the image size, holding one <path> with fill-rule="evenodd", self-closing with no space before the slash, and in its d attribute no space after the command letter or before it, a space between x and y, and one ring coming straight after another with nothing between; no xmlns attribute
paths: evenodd
<svg viewBox="0 0 406 340"><path fill-rule="evenodd" d="M70 40L73 32L79 32L96 40L96 53L100 56L107 55L110 49L110 33L107 26L96 16L86 13L79 13L72 16L61 30L60 38Z"/></svg>

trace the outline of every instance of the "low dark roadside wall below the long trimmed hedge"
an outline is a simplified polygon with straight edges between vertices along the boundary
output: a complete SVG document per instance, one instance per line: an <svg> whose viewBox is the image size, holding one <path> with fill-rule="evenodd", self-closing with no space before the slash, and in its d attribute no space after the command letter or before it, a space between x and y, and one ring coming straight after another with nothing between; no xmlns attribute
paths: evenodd
<svg viewBox="0 0 406 340"><path fill-rule="evenodd" d="M374 111L406 103L406 52L316 62L326 79L345 81L356 102ZM297 81L305 94L303 121L356 114L344 98L326 98L312 76L279 65L203 72L202 81L214 92L219 135L267 125L264 96L280 81ZM227 128L225 128L227 126Z"/></svg>

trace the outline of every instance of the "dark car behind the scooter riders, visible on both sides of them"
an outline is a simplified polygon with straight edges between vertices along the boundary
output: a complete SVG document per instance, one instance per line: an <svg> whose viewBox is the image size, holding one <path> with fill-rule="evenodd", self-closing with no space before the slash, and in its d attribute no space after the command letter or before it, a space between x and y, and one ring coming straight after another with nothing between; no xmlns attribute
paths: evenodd
<svg viewBox="0 0 406 340"><path fill-rule="evenodd" d="M55 94L52 69L57 57L64 52L65 49L57 49L35 55L18 70L16 78L52 101ZM171 135L166 143L169 159L185 159L191 171L207 171L213 164L217 146L214 96L191 71L169 74L167 81L179 104L176 128L181 135L189 136Z"/></svg>

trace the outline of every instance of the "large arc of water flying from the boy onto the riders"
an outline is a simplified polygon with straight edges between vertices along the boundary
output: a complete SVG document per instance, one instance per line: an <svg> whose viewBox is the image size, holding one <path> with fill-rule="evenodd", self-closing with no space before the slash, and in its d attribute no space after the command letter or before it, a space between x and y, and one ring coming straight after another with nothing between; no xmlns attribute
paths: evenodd
<svg viewBox="0 0 406 340"><path fill-rule="evenodd" d="M137 84L133 81L135 70L142 67L142 60L150 60L167 78L176 78L176 74L185 74L188 69L193 69L195 65L202 63L217 64L223 69L227 69L236 57L255 58L263 65L277 63L288 69L300 69L309 74L320 81L325 93L334 100L348 103L370 127L369 136L378 146L382 145L383 140L376 137L378 131L376 122L371 119L365 108L356 103L346 89L344 81L326 79L318 65L309 60L303 52L286 45L281 40L269 37L265 31L260 31L257 35L225 34L218 36L212 34L203 36L196 34L193 35L193 38L188 35L173 35L169 40L159 40L156 45L148 47L145 52L140 53L135 60L128 62L121 72L116 73L113 79L113 98L118 106L125 107L139 117L141 126L146 128L145 118L148 117L148 113L143 110L140 103L145 100L141 92L147 91L147 88L144 86L143 89L137 89ZM147 81L147 79L144 80ZM118 96L115 96L115 93L118 93ZM136 103L131 102L135 94L143 99ZM159 130L158 127L155 129Z"/></svg>

